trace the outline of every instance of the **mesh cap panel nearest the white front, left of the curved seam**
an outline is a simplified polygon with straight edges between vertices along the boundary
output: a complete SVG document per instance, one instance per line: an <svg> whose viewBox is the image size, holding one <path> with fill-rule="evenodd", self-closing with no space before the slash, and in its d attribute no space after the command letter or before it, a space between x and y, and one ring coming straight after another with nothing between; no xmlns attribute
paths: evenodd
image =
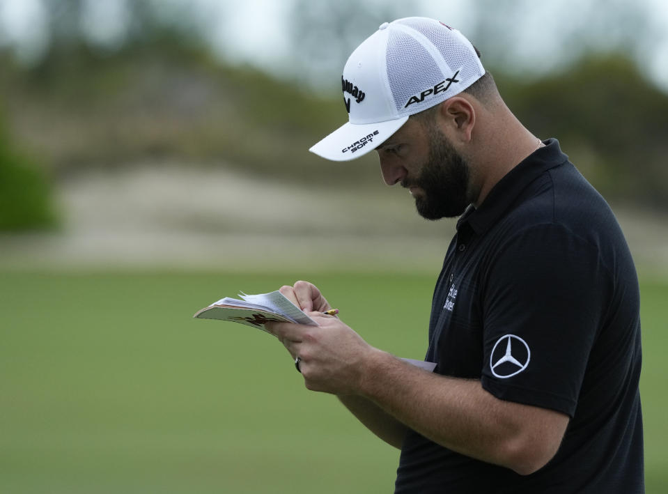
<svg viewBox="0 0 668 494"><path fill-rule="evenodd" d="M429 52L403 31L390 31L385 57L387 79L400 115L409 113L410 109L404 106L416 93L416 88L425 85L424 81L435 81L436 84L443 80L441 70Z"/></svg>

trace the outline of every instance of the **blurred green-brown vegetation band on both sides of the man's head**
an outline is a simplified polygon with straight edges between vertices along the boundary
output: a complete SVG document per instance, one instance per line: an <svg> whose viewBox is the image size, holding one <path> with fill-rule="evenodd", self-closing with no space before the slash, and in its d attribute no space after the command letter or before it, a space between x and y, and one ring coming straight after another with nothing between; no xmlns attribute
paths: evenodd
<svg viewBox="0 0 668 494"><path fill-rule="evenodd" d="M12 95L13 135L56 176L176 157L286 180L375 185L375 165L307 151L345 121L336 93L225 65L173 33L104 56L73 45L27 70L5 65L0 90ZM536 80L490 70L520 120L557 137L609 200L668 208L668 95L633 61L594 56ZM305 175L314 161L319 173Z"/></svg>

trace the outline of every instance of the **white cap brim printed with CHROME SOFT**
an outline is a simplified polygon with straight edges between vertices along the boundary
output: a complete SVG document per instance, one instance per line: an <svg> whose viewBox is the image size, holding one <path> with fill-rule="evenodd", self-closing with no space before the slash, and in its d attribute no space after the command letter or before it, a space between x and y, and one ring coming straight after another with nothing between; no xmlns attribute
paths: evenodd
<svg viewBox="0 0 668 494"><path fill-rule="evenodd" d="M350 161L366 155L406 123L408 116L378 123L345 123L309 151L332 161Z"/></svg>

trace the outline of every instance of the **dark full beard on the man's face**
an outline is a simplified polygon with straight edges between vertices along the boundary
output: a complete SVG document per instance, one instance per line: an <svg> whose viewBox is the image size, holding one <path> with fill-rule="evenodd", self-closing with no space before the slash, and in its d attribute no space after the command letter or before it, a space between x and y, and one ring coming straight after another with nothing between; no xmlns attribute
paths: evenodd
<svg viewBox="0 0 668 494"><path fill-rule="evenodd" d="M461 216L472 202L469 193L469 166L443 133L429 129L429 157L420 176L404 187L420 187L415 197L419 215L426 219Z"/></svg>

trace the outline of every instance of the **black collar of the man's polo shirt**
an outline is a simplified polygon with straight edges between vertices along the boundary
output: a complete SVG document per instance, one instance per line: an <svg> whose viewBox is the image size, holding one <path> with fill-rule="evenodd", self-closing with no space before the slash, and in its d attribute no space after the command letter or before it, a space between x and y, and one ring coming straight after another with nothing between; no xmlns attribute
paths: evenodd
<svg viewBox="0 0 668 494"><path fill-rule="evenodd" d="M457 222L457 230L469 224L477 234L487 231L515 202L522 190L538 176L568 161L557 139L547 139L545 146L536 149L492 187L479 208L470 205Z"/></svg>

